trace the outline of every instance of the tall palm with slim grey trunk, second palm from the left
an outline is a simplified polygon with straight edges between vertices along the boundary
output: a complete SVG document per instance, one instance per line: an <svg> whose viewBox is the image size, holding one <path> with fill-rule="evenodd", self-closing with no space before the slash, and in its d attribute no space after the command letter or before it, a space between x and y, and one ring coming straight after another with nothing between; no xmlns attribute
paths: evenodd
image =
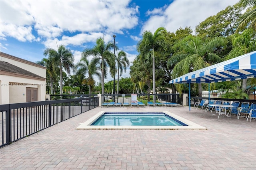
<svg viewBox="0 0 256 170"><path fill-rule="evenodd" d="M62 69L67 71L70 74L70 69L74 68L74 55L67 49L64 45L58 47L58 51L53 48L47 48L44 50L44 56L49 57L49 60L52 61L54 68L58 67L60 69L60 94L62 95Z"/></svg>

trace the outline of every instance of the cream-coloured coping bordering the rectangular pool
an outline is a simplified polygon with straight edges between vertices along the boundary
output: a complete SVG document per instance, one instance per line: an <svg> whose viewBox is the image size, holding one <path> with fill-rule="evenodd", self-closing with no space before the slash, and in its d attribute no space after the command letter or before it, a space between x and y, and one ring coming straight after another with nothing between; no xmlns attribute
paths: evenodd
<svg viewBox="0 0 256 170"><path fill-rule="evenodd" d="M168 111L111 111L111 113L165 113L188 126L90 126L96 119L98 119L104 113L109 113L110 111L100 111L84 123L76 128L76 130L86 130L86 129L143 129L143 130L207 130L206 127L202 127L192 121L189 121L183 117L170 113Z"/></svg>

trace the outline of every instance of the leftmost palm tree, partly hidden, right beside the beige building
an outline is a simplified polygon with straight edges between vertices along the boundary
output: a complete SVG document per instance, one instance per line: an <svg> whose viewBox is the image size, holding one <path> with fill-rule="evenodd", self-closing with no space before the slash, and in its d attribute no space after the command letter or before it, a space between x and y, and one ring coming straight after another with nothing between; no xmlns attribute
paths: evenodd
<svg viewBox="0 0 256 170"><path fill-rule="evenodd" d="M43 58L41 61L37 61L36 63L46 67L46 73L50 77L50 84L51 84L51 87L50 87L51 93L50 94L53 94L53 80L56 79L56 69L53 67L52 59Z"/></svg>

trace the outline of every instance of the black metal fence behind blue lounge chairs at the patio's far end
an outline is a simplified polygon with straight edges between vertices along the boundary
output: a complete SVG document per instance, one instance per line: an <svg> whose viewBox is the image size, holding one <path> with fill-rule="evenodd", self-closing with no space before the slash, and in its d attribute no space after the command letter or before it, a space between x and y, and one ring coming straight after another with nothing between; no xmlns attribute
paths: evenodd
<svg viewBox="0 0 256 170"><path fill-rule="evenodd" d="M131 103L132 102L132 95L131 94L118 94L118 95L101 95L102 96L102 103L112 102L116 103ZM159 103L178 103L183 105L183 94L137 94L137 101L143 102L147 105L148 101L153 101L154 96L156 96L156 102Z"/></svg>

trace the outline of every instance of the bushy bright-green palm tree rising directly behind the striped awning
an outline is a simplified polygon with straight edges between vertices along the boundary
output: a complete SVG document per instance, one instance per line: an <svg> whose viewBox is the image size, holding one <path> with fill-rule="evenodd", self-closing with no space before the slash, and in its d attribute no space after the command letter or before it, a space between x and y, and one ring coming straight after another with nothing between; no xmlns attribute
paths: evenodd
<svg viewBox="0 0 256 170"><path fill-rule="evenodd" d="M168 65L177 63L172 70L172 77L176 78L191 71L208 67L222 59L213 51L216 47L224 45L222 38L213 38L210 42L204 43L202 39L195 36L187 36L174 45L180 52L168 59ZM180 88L178 91L181 93ZM198 95L202 97L202 85L198 84Z"/></svg>

